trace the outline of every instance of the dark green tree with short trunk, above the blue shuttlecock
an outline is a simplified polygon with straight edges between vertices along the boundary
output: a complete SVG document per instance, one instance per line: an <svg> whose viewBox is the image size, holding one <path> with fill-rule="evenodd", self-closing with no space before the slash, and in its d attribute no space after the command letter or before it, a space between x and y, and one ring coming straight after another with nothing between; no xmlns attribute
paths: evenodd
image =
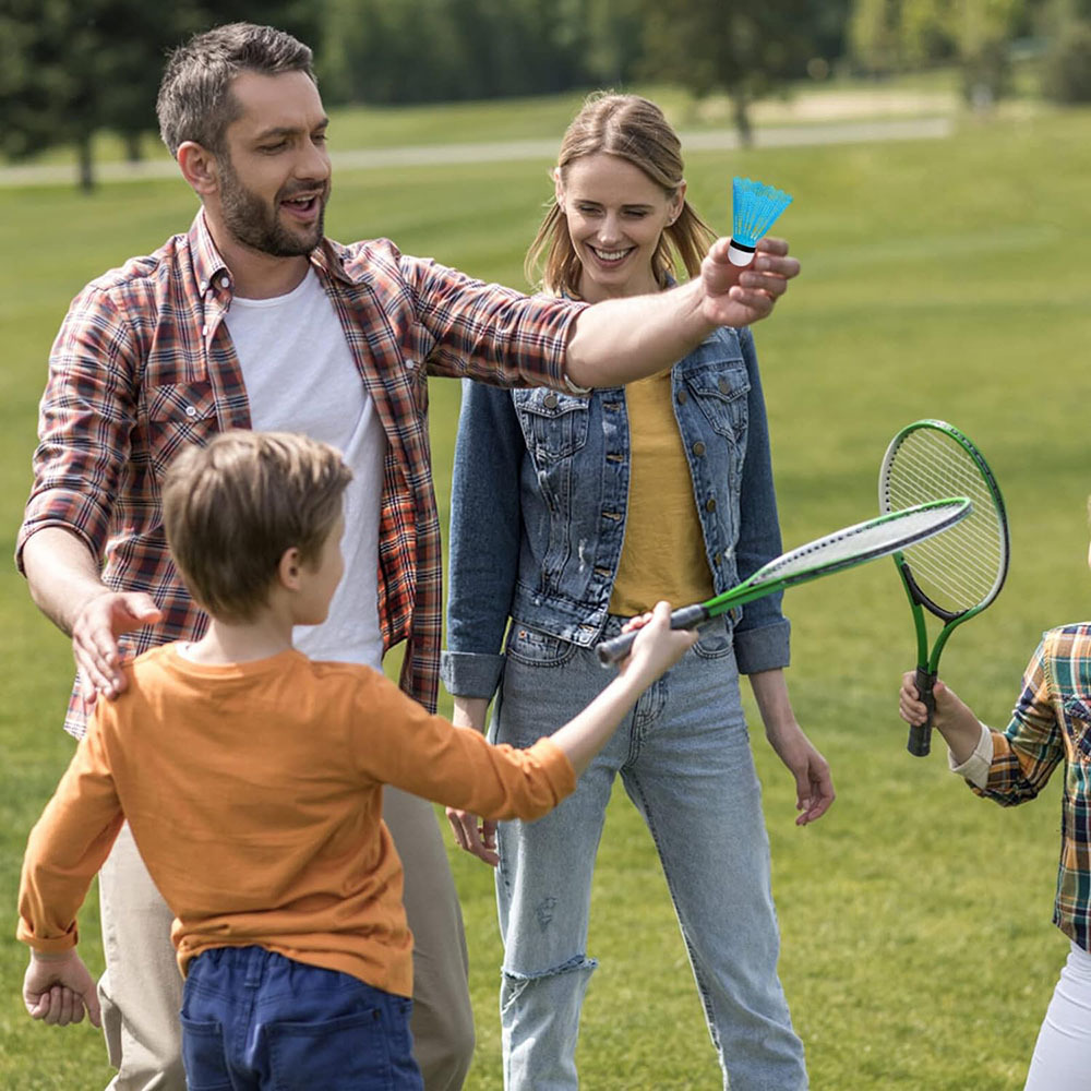
<svg viewBox="0 0 1091 1091"><path fill-rule="evenodd" d="M739 137L752 140L750 105L803 75L828 12L807 0L652 0L646 8L645 68L698 98L724 91Z"/></svg>

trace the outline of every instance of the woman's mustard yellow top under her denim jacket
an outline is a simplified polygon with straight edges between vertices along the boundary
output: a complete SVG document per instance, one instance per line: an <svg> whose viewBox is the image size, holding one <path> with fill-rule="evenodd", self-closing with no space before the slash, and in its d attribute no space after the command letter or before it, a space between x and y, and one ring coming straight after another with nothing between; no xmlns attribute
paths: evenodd
<svg viewBox="0 0 1091 1091"><path fill-rule="evenodd" d="M610 613L643 613L660 599L674 607L703 602L712 596L712 573L674 419L670 371L630 383L625 403L628 508Z"/></svg>

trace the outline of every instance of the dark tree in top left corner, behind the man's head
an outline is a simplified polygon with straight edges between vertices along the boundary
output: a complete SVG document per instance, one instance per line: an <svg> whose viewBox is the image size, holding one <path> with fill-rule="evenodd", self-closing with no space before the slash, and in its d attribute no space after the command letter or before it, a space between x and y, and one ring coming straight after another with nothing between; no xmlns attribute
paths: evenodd
<svg viewBox="0 0 1091 1091"><path fill-rule="evenodd" d="M147 0L3 0L0 151L24 157L72 144L80 187L89 192L96 132L118 132L133 148L155 128L169 49L195 31L248 19L305 40L316 32L313 12L307 0L179 0L163 8Z"/></svg>

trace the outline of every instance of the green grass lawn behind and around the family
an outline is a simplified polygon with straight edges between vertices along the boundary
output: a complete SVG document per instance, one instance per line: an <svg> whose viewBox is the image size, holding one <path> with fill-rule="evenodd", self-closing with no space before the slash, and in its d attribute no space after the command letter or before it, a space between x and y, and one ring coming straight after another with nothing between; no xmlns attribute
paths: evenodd
<svg viewBox="0 0 1091 1091"><path fill-rule="evenodd" d="M550 122L558 136L572 104L563 105ZM405 142L421 139L409 132ZM1091 271L1078 245L1066 250L1091 231L1089 168L1089 112L967 122L943 142L694 155L687 164L695 204L721 228L731 173L795 195L780 226L804 276L756 331L787 544L874 512L883 451L918 417L954 421L992 461L1011 517L1012 568L996 604L951 640L944 673L993 722L1005 720L1041 631L1091 613ZM387 235L409 253L520 285L547 193L533 163L341 172L329 229L345 239ZM0 271L0 538L9 555L29 482L34 407L69 298L184 228L194 208L181 182L105 185L92 200L63 188L0 192L9 257ZM433 382L444 508L457 398L456 384ZM940 753L906 754L896 691L913 639L888 562L790 591L786 604L796 711L839 790L825 819L796 829L791 784L758 729L781 972L813 1087L1015 1091L1067 949L1050 924L1057 786L1036 804L1002 811L974 800ZM108 1078L99 1038L25 1017L25 956L11 938L26 832L70 753L58 724L71 657L10 566L0 572L0 1086L83 1091ZM453 853L452 862L479 1033L469 1086L494 1091L491 876L468 858ZM93 967L101 964L96 921L88 906ZM585 1086L716 1087L658 863L624 799L611 805L599 854L589 952L601 966L583 1023Z"/></svg>

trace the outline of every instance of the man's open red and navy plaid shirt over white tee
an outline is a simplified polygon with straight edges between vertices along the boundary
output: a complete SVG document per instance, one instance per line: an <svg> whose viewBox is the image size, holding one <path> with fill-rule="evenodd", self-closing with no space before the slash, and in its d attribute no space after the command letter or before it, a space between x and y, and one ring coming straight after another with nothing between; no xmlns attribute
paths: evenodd
<svg viewBox="0 0 1091 1091"><path fill-rule="evenodd" d="M377 577L384 650L408 640L401 687L434 709L442 603L428 375L563 386L579 307L481 284L385 239L327 240L310 260L388 441ZM250 428L224 323L230 304L230 269L199 213L187 235L87 285L50 355L16 564L32 535L59 526L104 563L107 586L152 595L163 621L121 638L128 657L204 631L167 550L160 484L184 444ZM82 704L73 687L65 728L77 736Z"/></svg>

